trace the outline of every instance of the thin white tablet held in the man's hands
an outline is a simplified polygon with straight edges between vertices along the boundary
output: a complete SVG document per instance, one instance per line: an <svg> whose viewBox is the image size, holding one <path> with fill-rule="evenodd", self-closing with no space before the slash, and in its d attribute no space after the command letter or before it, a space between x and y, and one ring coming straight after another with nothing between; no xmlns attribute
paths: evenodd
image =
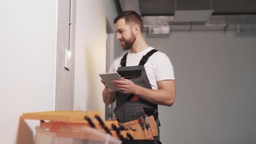
<svg viewBox="0 0 256 144"><path fill-rule="evenodd" d="M117 72L113 73L104 73L104 74L98 74L100 75L101 79L106 83L106 85L112 90L112 91L119 91L117 87L112 85L113 80L122 80L121 76Z"/></svg>

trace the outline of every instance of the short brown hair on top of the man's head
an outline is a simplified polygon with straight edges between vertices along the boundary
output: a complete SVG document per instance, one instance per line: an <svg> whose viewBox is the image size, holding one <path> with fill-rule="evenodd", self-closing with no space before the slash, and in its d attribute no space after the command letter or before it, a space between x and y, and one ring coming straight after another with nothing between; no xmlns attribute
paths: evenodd
<svg viewBox="0 0 256 144"><path fill-rule="evenodd" d="M142 32L142 20L141 16L133 10L126 10L123 13L115 17L114 23L117 23L120 19L125 19L125 23L136 23L139 25L139 30Z"/></svg>

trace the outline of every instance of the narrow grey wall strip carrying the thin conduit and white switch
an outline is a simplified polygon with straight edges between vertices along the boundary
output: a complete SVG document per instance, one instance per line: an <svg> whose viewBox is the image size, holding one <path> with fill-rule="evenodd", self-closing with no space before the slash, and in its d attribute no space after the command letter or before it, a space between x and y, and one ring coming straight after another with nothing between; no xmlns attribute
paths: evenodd
<svg viewBox="0 0 256 144"><path fill-rule="evenodd" d="M55 110L74 109L75 5L75 0L62 0L58 5ZM71 51L69 70L64 67L65 50Z"/></svg>

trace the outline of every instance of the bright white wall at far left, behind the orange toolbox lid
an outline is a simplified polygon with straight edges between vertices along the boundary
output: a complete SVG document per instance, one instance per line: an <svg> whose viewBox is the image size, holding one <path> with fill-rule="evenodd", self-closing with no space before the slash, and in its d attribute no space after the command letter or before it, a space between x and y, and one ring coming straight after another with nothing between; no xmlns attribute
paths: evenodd
<svg viewBox="0 0 256 144"><path fill-rule="evenodd" d="M1 1L0 16L0 141L32 143L39 122L20 115L54 110L56 1Z"/></svg>

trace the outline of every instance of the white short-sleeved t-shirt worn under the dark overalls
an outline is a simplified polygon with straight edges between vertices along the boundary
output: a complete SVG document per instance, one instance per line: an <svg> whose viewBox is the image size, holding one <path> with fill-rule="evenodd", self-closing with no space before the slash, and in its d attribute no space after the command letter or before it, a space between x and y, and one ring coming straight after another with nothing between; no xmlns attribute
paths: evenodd
<svg viewBox="0 0 256 144"><path fill-rule="evenodd" d="M138 53L130 53L129 51L126 58L126 67L138 65L139 61L141 61L141 58L153 49L153 47L148 47L146 50ZM121 67L120 62L123 56L115 58L109 69L109 72L115 72L119 67ZM170 59L165 55L165 53L160 51L155 52L152 56L149 57L146 64L144 64L144 68L146 70L152 89L158 89L158 81L175 80Z"/></svg>

